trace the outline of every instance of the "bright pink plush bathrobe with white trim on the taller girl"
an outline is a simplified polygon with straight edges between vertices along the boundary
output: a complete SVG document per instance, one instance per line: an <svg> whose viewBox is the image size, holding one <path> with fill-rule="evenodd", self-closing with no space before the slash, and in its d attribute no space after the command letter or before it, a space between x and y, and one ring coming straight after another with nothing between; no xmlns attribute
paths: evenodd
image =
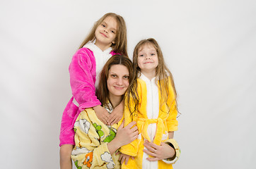
<svg viewBox="0 0 256 169"><path fill-rule="evenodd" d="M110 54L113 56L115 52L111 51ZM69 73L73 96L62 115L59 146L75 145L73 127L79 113L85 108L101 105L95 96L96 63L93 51L85 47L78 49L69 65ZM76 106L74 102L77 102L79 106Z"/></svg>

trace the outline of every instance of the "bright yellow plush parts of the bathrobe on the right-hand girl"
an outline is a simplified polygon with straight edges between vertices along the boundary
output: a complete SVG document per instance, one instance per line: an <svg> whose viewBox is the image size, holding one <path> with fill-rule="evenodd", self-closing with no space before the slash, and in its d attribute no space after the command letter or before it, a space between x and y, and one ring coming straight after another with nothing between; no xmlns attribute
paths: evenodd
<svg viewBox="0 0 256 169"><path fill-rule="evenodd" d="M136 168L140 169L142 168L142 160L143 160L143 149L144 149L144 140L147 139L149 142L153 142L154 144L160 145L161 142L170 143L174 146L176 151L176 157L174 161L170 161L171 163L175 163L175 161L180 156L180 149L175 142L174 139L168 139L168 132L173 132L175 130L178 130L178 121L176 120L176 117L178 115L178 112L175 108L175 95L173 92L173 87L170 83L168 84L168 101L167 104L161 104L159 103L159 113L158 118L156 119L149 119L147 116L146 106L147 106L147 87L146 82L141 79L137 79L137 92L139 95L139 111L136 111L133 113L133 115L130 115L129 108L127 107L127 101L125 101L125 107L124 107L124 126L128 125L132 122L132 120L136 121L136 125L139 130L139 134L141 134L141 137L134 140L134 142L131 142L130 144L127 144L125 146L122 146L120 151L123 154L127 154L129 156L135 156L134 160L132 158L129 158L129 161L127 165L124 165L122 163L122 168ZM159 102L161 102L161 96L160 96L160 90L158 85L158 99ZM131 99L132 103L132 99ZM131 105L131 108L134 108L134 106ZM148 126L151 123L156 123L156 134L155 137L152 140L149 138L149 134L147 132ZM168 161L168 159L166 159ZM165 161L166 162L166 161ZM158 168L173 168L170 163L165 163L163 161L158 161Z"/></svg>

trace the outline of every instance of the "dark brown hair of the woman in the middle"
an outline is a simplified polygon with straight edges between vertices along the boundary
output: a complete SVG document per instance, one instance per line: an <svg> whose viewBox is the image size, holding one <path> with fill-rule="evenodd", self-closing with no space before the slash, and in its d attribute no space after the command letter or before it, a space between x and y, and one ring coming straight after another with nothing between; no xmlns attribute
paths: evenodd
<svg viewBox="0 0 256 169"><path fill-rule="evenodd" d="M107 106L107 103L110 102L109 90L107 89L107 78L109 75L109 70L112 65L124 65L129 70L129 84L132 84L132 80L134 79L132 75L132 61L128 56L116 54L108 59L107 63L105 63L103 70L100 73L100 82L98 84L98 89L96 95L100 100L102 106ZM124 95L123 95L124 96Z"/></svg>

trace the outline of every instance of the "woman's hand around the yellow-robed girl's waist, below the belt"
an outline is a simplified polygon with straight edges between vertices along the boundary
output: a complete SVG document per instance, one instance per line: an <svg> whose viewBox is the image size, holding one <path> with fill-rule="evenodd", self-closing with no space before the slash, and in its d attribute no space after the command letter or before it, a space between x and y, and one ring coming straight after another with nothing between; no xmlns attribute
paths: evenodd
<svg viewBox="0 0 256 169"><path fill-rule="evenodd" d="M173 147L169 146L166 143L161 143L160 146L153 144L153 142L145 141L144 146L146 149L143 151L146 154L149 154L150 156L153 156L153 158L146 158L148 161L159 161L163 160L165 158L172 158L175 156L175 149Z"/></svg>

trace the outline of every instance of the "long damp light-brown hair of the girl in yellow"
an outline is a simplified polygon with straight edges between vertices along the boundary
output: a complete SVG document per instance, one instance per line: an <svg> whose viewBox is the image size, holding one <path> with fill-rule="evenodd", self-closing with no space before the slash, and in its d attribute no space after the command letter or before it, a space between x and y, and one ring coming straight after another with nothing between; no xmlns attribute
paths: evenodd
<svg viewBox="0 0 256 169"><path fill-rule="evenodd" d="M173 81L173 75L172 73L170 73L170 70L167 68L167 66L165 65L165 62L163 60L163 53L161 51L160 46L158 45L158 42L156 42L155 39L153 38L149 38L149 39L143 39L141 40L138 44L136 44L135 48L134 48L134 54L133 54L133 68L134 68L134 80L132 81L132 85L130 85L128 92L127 92L127 101L128 101L128 107L129 107L129 111L132 113L134 113L136 110L138 110L138 105L139 105L139 97L138 97L138 93L136 92L137 89L137 77L139 77L139 75L141 75L141 69L139 68L138 65L138 54L139 51L141 50L141 48L146 45L146 44L151 44L153 45L153 47L156 49L157 55L158 55L158 66L156 67L156 80L158 80L159 83L159 87L160 87L160 91L161 91L161 105L166 104L167 99L168 99L168 93L169 93L169 89L168 89L168 83L169 83L169 78L170 77L170 82L172 84L173 87L173 92L175 95L175 98L173 101L175 101L176 106L175 108L178 111L177 108L177 92L175 89L175 84ZM132 99L132 101L134 101L134 108L130 107L129 105L129 101ZM168 113L168 112L167 112Z"/></svg>

